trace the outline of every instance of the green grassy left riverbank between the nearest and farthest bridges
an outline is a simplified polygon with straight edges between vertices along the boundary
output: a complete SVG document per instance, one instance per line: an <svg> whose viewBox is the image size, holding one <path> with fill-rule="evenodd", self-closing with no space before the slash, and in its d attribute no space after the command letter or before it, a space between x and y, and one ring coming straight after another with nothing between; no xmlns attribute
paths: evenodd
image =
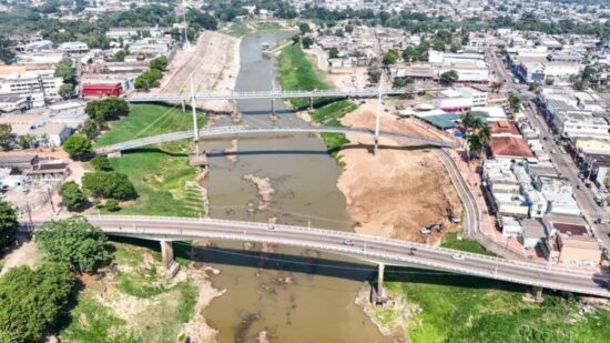
<svg viewBox="0 0 610 343"><path fill-rule="evenodd" d="M205 119L199 118L203 127ZM131 107L126 118L113 123L112 129L95 143L98 147L192 128L190 112L156 104ZM138 191L138 199L122 204L120 213L150 215L204 215L200 189L190 183L196 168L189 165L190 141L176 141L124 152L120 159L110 159L110 165L125 173Z"/></svg>

